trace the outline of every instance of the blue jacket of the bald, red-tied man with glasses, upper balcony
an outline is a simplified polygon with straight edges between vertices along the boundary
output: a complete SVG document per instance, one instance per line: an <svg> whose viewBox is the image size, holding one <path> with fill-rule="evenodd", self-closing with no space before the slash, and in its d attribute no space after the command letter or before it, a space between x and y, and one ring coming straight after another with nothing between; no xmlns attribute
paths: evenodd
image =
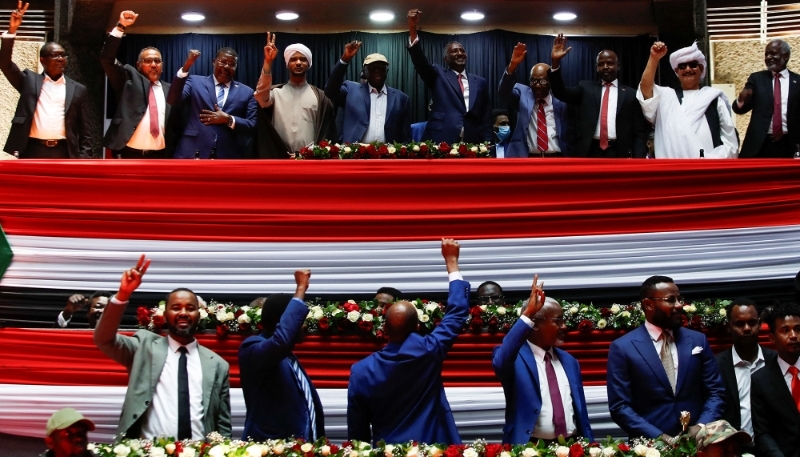
<svg viewBox="0 0 800 457"><path fill-rule="evenodd" d="M536 97L533 95L531 86L514 83L514 75L503 73L500 80L500 87L497 89L497 96L500 102L508 107L509 110L517 112L517 126L511 135L511 141L506 149L506 157L528 157L530 147L528 146L528 127L531 123L533 111L538 109ZM556 120L556 135L558 135L558 147L565 157L570 156L570 145L568 141L567 104L551 97L553 100L553 117Z"/></svg>

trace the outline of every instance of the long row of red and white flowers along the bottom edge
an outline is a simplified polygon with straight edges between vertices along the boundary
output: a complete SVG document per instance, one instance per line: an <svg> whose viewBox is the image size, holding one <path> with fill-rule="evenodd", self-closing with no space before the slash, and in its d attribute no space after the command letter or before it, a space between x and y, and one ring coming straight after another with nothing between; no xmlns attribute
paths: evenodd
<svg viewBox="0 0 800 457"><path fill-rule="evenodd" d="M231 440L216 432L208 442L173 438L154 440L123 439L115 444L89 444L89 450L100 457L682 457L697 455L696 444L684 435L675 445L659 440L636 439L630 444L611 437L599 442L584 438L545 444L521 445L487 443L425 444L409 441L402 444L375 446L363 441L346 441L341 446L326 438L315 442L302 439L268 440L265 442Z"/></svg>

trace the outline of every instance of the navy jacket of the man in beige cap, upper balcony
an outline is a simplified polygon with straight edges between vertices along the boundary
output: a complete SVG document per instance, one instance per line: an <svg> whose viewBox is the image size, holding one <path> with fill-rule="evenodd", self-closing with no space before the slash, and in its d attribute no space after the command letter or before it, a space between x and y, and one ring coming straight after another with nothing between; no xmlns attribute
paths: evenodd
<svg viewBox="0 0 800 457"><path fill-rule="evenodd" d="M347 64L339 61L325 84L325 95L336 106L344 110L341 141L356 143L364 138L369 127L370 86L369 83L345 81ZM386 117L383 132L387 143L411 141L411 111L408 95L386 87Z"/></svg>

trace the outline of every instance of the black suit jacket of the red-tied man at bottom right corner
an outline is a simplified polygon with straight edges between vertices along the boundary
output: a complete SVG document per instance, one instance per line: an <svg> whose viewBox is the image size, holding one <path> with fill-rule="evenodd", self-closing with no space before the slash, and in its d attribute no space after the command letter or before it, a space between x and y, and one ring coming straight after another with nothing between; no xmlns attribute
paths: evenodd
<svg viewBox="0 0 800 457"><path fill-rule="evenodd" d="M800 412L778 365L767 361L753 373L750 403L759 457L800 457Z"/></svg>

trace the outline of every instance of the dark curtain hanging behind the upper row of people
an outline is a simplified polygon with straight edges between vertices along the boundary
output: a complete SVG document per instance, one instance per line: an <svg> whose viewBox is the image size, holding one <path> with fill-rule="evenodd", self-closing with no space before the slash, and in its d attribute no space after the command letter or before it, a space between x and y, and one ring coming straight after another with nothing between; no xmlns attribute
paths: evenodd
<svg viewBox="0 0 800 457"><path fill-rule="evenodd" d="M333 34L297 34L278 33L276 44L280 52L292 43L303 43L313 53L313 65L308 80L320 88L324 88L333 66L350 41L359 40L363 44L347 73L350 80L358 80L361 71L360 62L373 52L384 54L389 62L387 84L402 90L412 101L412 121L426 119L429 97L425 85L417 77L411 59L408 57L408 33L364 33L346 32ZM155 46L164 58L164 76L171 81L178 69L186 60L189 49L199 49L202 56L192 68L193 74L208 75L211 73L211 62L219 48L229 46L239 53L239 67L236 80L255 88L261 65L264 61L264 44L266 34L243 35L127 35L122 41L120 60L127 63L136 61L139 51L147 46ZM511 53L518 42L525 43L528 54L525 58L525 71L517 71L517 80L527 84L527 73L539 62L550 63L550 49L553 37L548 35L530 35L490 30L471 34L436 34L420 32L420 44L431 63L441 63L444 47L451 41L458 41L467 50L467 72L483 76L489 86L496 88L500 83L505 67L511 59ZM614 50L620 58L622 70L620 80L623 84L636 87L639 84L650 52L653 39L639 37L576 37L569 38L572 51L562 61L562 71L567 85L575 85L583 79L594 79L595 57L603 49ZM275 83L285 82L286 67L282 56L273 63ZM497 106L495 91L491 93L493 106ZM110 111L113 112L113 111Z"/></svg>

